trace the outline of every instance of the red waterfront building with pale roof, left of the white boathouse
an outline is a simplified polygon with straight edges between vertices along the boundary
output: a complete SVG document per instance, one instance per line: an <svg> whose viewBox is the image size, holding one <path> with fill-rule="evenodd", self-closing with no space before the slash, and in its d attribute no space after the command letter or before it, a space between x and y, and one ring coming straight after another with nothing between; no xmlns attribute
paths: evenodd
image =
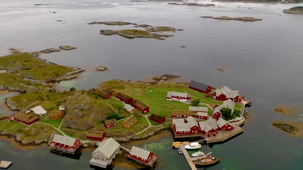
<svg viewBox="0 0 303 170"><path fill-rule="evenodd" d="M62 152L74 154L80 145L80 139L55 134L49 147Z"/></svg>

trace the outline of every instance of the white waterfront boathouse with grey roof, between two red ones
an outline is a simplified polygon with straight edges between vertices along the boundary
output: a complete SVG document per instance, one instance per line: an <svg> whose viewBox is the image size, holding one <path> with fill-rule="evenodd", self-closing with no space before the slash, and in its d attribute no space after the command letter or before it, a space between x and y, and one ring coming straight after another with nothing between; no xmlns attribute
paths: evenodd
<svg viewBox="0 0 303 170"><path fill-rule="evenodd" d="M106 139L98 145L97 149L91 154L92 158L89 163L106 168L120 151L121 145L112 138Z"/></svg>

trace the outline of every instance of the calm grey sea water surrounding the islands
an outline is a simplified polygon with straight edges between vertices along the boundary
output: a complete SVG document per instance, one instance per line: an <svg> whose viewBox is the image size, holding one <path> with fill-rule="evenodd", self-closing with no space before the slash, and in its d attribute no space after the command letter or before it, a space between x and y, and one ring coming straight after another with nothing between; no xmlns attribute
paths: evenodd
<svg viewBox="0 0 303 170"><path fill-rule="evenodd" d="M303 15L282 13L302 4L215 4L188 7L117 0L2 0L0 55L7 55L10 47L24 51L77 47L42 55L60 65L86 69L79 79L61 82L62 89L89 89L113 78L138 80L165 73L215 87L229 86L252 100L249 111L254 118L244 124L242 135L212 147L221 162L209 169L301 169L302 138L281 133L270 122L303 121ZM263 20L251 23L199 16L253 16ZM87 25L92 21L125 21L184 31L172 33L175 36L166 40L126 39L99 35L99 31L132 26ZM109 71L94 72L97 66L106 66ZM218 73L217 68L227 71ZM275 114L272 108L277 104L294 105L296 115ZM164 162L156 169L189 169L184 157L171 149L172 141L167 137L144 145ZM0 148L0 160L13 162L9 169L90 169L89 152L74 160L51 154L46 147L21 152L0 141Z"/></svg>

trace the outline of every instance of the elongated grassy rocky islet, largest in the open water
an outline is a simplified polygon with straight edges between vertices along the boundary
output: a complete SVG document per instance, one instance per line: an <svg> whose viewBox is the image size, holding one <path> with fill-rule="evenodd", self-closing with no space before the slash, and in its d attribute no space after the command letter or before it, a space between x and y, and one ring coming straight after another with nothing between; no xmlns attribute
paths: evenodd
<svg viewBox="0 0 303 170"><path fill-rule="evenodd" d="M160 40L164 40L165 37L170 37L174 35L169 35L169 34L155 34L155 33L150 33L147 31L143 30L118 30L118 31L113 31L113 30L100 30L101 35L114 35L113 33L120 35L125 38L156 38Z"/></svg>

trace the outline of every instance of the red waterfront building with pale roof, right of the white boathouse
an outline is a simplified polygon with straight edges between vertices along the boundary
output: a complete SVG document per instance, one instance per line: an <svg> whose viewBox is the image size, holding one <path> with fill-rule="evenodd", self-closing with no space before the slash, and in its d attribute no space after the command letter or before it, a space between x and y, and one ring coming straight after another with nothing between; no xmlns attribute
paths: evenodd
<svg viewBox="0 0 303 170"><path fill-rule="evenodd" d="M148 166L153 166L157 161L158 156L154 155L153 152L143 150L140 147L132 146L127 158L138 161Z"/></svg>

